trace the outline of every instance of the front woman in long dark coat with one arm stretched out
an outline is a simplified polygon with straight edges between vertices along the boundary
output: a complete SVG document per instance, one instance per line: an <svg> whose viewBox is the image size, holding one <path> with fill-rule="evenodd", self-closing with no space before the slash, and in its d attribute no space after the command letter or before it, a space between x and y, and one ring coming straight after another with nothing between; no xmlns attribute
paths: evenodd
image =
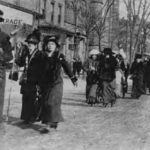
<svg viewBox="0 0 150 150"><path fill-rule="evenodd" d="M43 95L41 120L45 127L42 128L41 133L48 133L50 128L57 128L58 123L64 120L61 111L63 96L62 68L74 84L76 84L77 79L73 76L64 55L58 50L58 38L47 36L44 43L47 57L45 58L41 86Z"/></svg>

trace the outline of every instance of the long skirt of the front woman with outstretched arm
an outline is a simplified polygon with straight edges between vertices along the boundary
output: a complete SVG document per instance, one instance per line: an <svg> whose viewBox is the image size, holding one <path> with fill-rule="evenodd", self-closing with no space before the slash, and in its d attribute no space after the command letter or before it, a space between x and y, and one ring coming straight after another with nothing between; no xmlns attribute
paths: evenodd
<svg viewBox="0 0 150 150"><path fill-rule="evenodd" d="M63 83L48 86L43 93L41 120L44 124L64 121L61 111Z"/></svg>

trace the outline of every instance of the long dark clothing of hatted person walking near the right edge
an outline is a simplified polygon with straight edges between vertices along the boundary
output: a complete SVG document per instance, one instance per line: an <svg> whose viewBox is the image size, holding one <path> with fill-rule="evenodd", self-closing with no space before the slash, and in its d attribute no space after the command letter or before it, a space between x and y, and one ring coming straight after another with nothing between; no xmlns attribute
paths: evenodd
<svg viewBox="0 0 150 150"><path fill-rule="evenodd" d="M130 73L132 74L133 85L132 85L132 97L139 98L142 94L145 93L144 88L144 74L145 67L143 62L137 63L133 62Z"/></svg>

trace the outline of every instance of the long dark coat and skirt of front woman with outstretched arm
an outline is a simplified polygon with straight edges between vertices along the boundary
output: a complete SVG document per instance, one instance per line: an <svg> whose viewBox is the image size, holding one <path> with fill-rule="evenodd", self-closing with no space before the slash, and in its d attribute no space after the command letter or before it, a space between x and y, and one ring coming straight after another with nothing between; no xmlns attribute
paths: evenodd
<svg viewBox="0 0 150 150"><path fill-rule="evenodd" d="M73 77L73 73L64 55L58 51L54 52L51 57L45 58L44 66L41 86L43 95L41 119L45 124L61 122L63 121L61 112L63 96L62 68L70 78Z"/></svg>

